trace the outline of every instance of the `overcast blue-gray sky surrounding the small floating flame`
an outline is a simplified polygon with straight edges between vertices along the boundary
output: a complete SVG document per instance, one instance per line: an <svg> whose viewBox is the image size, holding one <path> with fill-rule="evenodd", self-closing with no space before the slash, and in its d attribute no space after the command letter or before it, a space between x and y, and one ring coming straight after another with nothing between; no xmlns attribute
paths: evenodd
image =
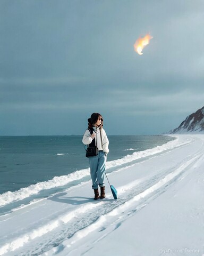
<svg viewBox="0 0 204 256"><path fill-rule="evenodd" d="M174 129L204 105L203 27L202 0L1 0L0 135Z"/></svg>

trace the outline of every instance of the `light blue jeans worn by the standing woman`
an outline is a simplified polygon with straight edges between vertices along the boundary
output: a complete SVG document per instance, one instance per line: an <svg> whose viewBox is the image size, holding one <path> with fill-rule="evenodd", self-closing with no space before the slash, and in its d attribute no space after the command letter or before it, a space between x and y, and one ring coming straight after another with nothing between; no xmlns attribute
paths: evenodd
<svg viewBox="0 0 204 256"><path fill-rule="evenodd" d="M106 156L104 151L98 151L97 156L89 157L89 165L91 171L92 188L97 189L104 187L104 177L106 170Z"/></svg>

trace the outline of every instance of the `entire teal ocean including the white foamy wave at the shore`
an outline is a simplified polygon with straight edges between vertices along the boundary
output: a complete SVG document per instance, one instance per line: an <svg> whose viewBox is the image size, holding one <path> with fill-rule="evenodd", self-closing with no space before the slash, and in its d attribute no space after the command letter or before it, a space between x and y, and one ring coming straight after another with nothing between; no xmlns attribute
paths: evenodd
<svg viewBox="0 0 204 256"><path fill-rule="evenodd" d="M111 135L108 139L107 172L112 172L118 166L132 163L137 159L136 153L142 154L174 138ZM0 137L1 214L89 181L89 161L85 154L81 135Z"/></svg>

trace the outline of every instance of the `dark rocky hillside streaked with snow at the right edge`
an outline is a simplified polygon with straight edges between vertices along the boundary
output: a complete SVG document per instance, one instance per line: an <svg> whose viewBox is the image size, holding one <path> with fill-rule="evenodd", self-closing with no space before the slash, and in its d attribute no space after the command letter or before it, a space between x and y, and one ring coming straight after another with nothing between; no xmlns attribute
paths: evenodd
<svg viewBox="0 0 204 256"><path fill-rule="evenodd" d="M196 113L187 116L185 120L174 130L169 133L199 133L204 132L204 107L198 109Z"/></svg>

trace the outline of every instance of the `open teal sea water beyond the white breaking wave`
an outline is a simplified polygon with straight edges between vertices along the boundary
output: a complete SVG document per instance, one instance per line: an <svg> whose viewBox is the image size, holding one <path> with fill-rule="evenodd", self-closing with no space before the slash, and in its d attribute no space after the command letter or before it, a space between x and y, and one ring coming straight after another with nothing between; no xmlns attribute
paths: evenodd
<svg viewBox="0 0 204 256"><path fill-rule="evenodd" d="M115 160L114 163L135 151L161 146L173 140L163 135L115 135L108 136L108 139L110 151L107 161ZM80 135L0 137L0 195L37 183L39 187L41 184L39 190L46 189L50 180L56 182L57 187L60 185L60 178L57 177L88 169L89 161L85 154ZM55 185L52 184L53 187Z"/></svg>

